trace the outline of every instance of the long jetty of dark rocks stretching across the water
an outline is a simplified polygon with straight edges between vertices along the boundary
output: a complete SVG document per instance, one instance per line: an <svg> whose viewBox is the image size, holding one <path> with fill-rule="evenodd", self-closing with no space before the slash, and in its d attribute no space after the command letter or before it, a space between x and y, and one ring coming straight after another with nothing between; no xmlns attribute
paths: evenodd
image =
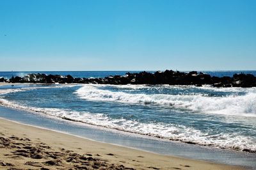
<svg viewBox="0 0 256 170"><path fill-rule="evenodd" d="M233 77L214 77L202 72L175 72L166 70L155 73L125 73L125 75L109 75L104 78L74 78L71 75L45 75L44 73L29 73L24 77L0 78L0 82L33 82L33 83L80 83L80 84L170 84L170 85L195 85L209 84L214 87L256 87L256 77L252 74L234 74Z"/></svg>

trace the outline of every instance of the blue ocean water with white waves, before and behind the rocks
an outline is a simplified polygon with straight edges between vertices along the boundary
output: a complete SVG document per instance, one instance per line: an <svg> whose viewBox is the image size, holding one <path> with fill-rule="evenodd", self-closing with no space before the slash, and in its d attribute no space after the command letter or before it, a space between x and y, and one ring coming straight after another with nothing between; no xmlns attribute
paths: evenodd
<svg viewBox="0 0 256 170"><path fill-rule="evenodd" d="M40 73L106 77L126 72ZM204 73L232 76L241 72L256 75L256 71ZM31 72L0 72L0 77L26 73ZM155 140L256 151L256 88L8 84L0 86L0 105Z"/></svg>

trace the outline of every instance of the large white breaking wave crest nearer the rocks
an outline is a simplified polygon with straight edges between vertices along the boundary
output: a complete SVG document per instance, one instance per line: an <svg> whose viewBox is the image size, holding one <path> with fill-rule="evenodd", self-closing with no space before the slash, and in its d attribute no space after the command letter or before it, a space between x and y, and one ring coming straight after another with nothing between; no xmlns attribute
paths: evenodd
<svg viewBox="0 0 256 170"><path fill-rule="evenodd" d="M202 94L166 95L125 93L99 89L97 85L86 85L75 92L85 100L106 102L127 102L130 104L155 104L190 109L196 112L256 117L256 91L252 89L245 95L209 97Z"/></svg>

